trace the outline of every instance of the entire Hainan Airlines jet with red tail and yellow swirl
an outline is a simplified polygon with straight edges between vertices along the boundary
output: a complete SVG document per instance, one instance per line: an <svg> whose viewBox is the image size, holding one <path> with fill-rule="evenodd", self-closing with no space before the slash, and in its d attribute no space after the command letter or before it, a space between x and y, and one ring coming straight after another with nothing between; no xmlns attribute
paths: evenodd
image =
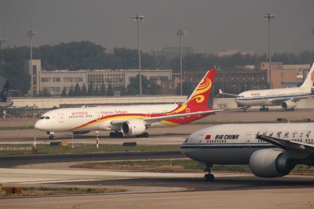
<svg viewBox="0 0 314 209"><path fill-rule="evenodd" d="M180 126L223 111L207 107L215 73L215 69L208 71L184 104L60 108L44 113L35 129L47 131L49 139L54 138L54 132L83 134L104 130L114 131L110 137L148 137L148 128Z"/></svg>

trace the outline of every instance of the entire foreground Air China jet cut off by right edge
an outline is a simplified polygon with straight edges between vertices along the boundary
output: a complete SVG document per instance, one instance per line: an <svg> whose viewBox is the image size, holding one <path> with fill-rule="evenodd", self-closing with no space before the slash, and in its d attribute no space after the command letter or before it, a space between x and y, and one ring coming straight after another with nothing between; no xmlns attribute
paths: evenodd
<svg viewBox="0 0 314 209"><path fill-rule="evenodd" d="M188 136L181 152L206 167L213 181L213 164L250 165L255 176L282 177L297 164L314 165L314 123L228 124Z"/></svg>

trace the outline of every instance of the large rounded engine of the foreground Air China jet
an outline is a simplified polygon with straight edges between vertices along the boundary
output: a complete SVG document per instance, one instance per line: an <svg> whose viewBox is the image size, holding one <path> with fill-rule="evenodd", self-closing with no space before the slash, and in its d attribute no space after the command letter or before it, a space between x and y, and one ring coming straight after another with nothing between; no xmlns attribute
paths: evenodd
<svg viewBox="0 0 314 209"><path fill-rule="evenodd" d="M255 176L274 178L286 176L294 168L283 151L277 149L263 149L255 151L250 157L250 168Z"/></svg>

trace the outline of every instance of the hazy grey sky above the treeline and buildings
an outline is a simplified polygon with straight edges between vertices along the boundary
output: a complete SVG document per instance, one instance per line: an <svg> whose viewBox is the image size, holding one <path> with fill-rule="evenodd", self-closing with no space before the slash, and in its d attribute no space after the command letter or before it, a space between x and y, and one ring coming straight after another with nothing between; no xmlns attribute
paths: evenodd
<svg viewBox="0 0 314 209"><path fill-rule="evenodd" d="M179 46L178 29L187 31L183 46L194 52L226 49L268 52L266 13L271 21L272 52L314 50L314 0L0 0L4 46L29 44L26 31L38 32L34 46L89 40L107 49L141 50Z"/></svg>

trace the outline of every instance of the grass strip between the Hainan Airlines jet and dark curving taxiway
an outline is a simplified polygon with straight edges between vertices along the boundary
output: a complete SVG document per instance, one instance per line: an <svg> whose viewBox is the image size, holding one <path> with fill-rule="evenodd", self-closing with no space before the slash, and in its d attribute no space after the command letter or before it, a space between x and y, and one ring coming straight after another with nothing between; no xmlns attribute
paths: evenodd
<svg viewBox="0 0 314 209"><path fill-rule="evenodd" d="M0 145L0 156L8 155L26 155L30 154L30 150L20 150L20 147L31 146L30 144L17 144L17 145ZM9 150L9 149L19 150ZM2 150L1 150L2 148ZM49 144L37 144L37 154L71 154L71 153L98 153L98 152L139 152L139 151L170 151L180 150L180 145L137 145L124 147L123 145L111 145L111 144L100 144L99 148L96 148L95 144L75 144L72 148L72 144L68 146L50 146Z"/></svg>

